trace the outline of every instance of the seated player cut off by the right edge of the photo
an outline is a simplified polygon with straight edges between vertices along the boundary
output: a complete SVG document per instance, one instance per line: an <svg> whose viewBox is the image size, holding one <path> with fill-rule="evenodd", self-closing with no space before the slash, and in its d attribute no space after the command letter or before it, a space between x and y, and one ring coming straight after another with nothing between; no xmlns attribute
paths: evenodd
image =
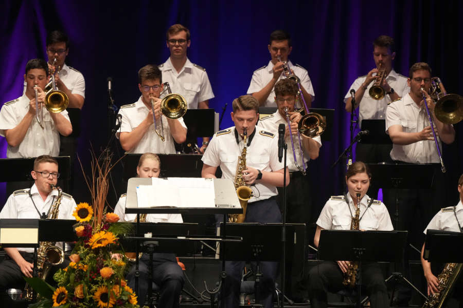
<svg viewBox="0 0 463 308"><path fill-rule="evenodd" d="M463 225L463 175L461 175L458 180L458 192L460 195L458 204L456 206L442 208L438 211L424 230L424 234L426 234L428 229L463 232L461 228ZM421 265L423 266L424 278L426 278L428 284L428 295L431 295L439 292L439 282L431 270L431 262L423 259L423 252L424 244L421 248ZM450 298L457 299L460 302L460 306L461 303L463 303L463 281L461 277L460 275L453 286L452 293L448 295Z"/></svg>

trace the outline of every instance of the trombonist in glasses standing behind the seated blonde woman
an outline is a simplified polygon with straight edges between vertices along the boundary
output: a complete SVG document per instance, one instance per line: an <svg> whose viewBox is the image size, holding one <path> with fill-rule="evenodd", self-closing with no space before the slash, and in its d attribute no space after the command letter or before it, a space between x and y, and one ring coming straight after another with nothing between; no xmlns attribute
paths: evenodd
<svg viewBox="0 0 463 308"><path fill-rule="evenodd" d="M159 93L163 90L161 70L151 64L140 68L138 71L138 89L141 93L138 101L121 106L119 109L122 120L116 137L119 139L120 145L126 152L130 153L175 154L173 141L175 140L176 143L185 142L187 127L183 118L169 119L161 114L161 99L159 99ZM161 120L159 120L160 118ZM163 121L164 131L161 131L159 124L157 130L164 134L165 141L156 133L154 119L159 124L160 121Z"/></svg>

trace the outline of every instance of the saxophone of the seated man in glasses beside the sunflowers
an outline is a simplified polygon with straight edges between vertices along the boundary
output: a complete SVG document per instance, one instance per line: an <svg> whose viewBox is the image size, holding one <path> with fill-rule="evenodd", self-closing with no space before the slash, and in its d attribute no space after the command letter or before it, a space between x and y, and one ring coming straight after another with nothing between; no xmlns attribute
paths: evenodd
<svg viewBox="0 0 463 308"><path fill-rule="evenodd" d="M63 190L53 184L50 184L50 187L51 189L58 190L58 197L51 205L50 210L48 211L47 219L58 219ZM45 280L48 276L51 266L61 264L63 261L64 251L60 247L55 246L55 242L40 242L39 248L37 249L37 277ZM26 283L24 290L26 293L26 300L31 301L33 294L32 287Z"/></svg>

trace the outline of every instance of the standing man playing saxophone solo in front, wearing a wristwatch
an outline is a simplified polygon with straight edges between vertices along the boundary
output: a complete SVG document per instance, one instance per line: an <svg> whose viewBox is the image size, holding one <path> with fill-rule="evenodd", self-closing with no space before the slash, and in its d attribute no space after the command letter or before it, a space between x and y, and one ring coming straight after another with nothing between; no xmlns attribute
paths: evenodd
<svg viewBox="0 0 463 308"><path fill-rule="evenodd" d="M247 133L246 167L242 171L246 185L252 186L254 196L248 201L244 222L281 222L281 214L275 201L276 186L283 186L283 163L278 162L278 140L275 134L256 127L259 103L251 95L241 95L233 101L230 127L216 132L202 161L201 176L215 178L217 167L222 170L222 178L235 179L238 156L241 155L243 131ZM289 172L287 171L289 184ZM223 289L226 307L237 307L243 262L226 262L227 277ZM263 274L260 291L261 304L272 306L275 290L277 262L260 262Z"/></svg>

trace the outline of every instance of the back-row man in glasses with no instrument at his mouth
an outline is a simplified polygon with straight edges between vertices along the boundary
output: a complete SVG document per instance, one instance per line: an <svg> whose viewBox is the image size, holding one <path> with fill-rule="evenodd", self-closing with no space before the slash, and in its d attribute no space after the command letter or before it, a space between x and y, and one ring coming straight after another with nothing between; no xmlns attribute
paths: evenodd
<svg viewBox="0 0 463 308"><path fill-rule="evenodd" d="M214 98L214 93L206 69L191 63L187 57L191 44L190 30L175 24L167 30L166 38L170 57L158 66L163 72L163 80L169 83L173 93L179 93L186 99L188 109L209 108L209 100ZM204 153L208 144L209 137L204 137L199 151Z"/></svg>

